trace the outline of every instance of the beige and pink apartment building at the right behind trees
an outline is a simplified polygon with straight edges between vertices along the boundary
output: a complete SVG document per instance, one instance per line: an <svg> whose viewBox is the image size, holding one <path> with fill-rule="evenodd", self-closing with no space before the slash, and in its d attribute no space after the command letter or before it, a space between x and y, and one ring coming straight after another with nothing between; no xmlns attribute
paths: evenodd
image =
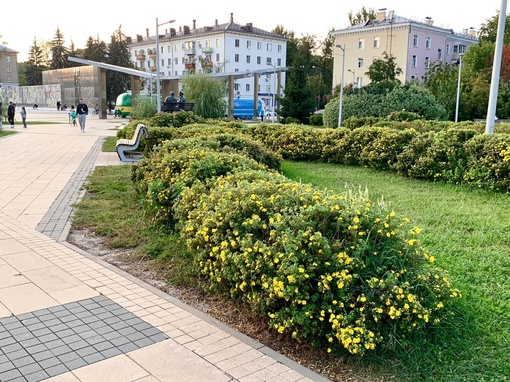
<svg viewBox="0 0 510 382"><path fill-rule="evenodd" d="M421 82L431 63L457 63L469 46L478 43L473 28L457 33L435 26L430 17L416 21L386 9L378 10L375 20L337 30L333 36L333 87L341 83L342 65L344 85L367 85L369 66L375 59L383 58L384 53L395 57L395 63L402 69L399 76L402 82Z"/></svg>

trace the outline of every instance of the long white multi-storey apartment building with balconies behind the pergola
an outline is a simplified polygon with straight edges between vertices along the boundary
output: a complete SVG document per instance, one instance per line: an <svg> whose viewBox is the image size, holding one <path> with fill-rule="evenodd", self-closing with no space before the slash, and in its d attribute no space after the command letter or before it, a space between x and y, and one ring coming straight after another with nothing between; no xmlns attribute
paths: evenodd
<svg viewBox="0 0 510 382"><path fill-rule="evenodd" d="M131 60L136 68L157 75L156 36L128 37ZM230 14L228 23L198 28L196 20L189 26L159 31L160 78L182 78L193 73L235 74L235 96L253 98L254 78L250 72L267 70L258 81L259 97L267 100L275 92L274 72L286 66L287 39L255 28L252 23L240 25ZM246 73L246 76L237 74ZM277 74L278 75L278 74ZM281 74L280 94L285 88ZM164 97L165 95L163 95Z"/></svg>

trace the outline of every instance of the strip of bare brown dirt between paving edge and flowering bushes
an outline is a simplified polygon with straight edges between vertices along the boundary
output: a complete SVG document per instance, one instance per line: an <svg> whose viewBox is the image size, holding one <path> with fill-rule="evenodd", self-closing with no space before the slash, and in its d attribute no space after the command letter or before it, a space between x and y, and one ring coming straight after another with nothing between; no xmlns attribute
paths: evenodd
<svg viewBox="0 0 510 382"><path fill-rule="evenodd" d="M166 281L163 269L154 266L147 258L140 258L130 249L110 249L103 244L103 238L88 230L73 230L67 241L93 256L116 266L130 275L152 285L155 288L179 299L217 319L218 321L256 339L271 349L314 370L315 372L338 382L372 382L390 379L359 375L347 367L342 358L335 358L328 353L296 343L295 340L275 335L267 327L266 321L252 311L221 296L210 295L196 288L177 288Z"/></svg>

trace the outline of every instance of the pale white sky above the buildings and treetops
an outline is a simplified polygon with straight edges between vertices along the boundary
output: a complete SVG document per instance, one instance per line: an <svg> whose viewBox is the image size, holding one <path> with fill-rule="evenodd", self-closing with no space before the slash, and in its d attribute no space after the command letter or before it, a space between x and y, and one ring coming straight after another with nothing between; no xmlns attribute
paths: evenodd
<svg viewBox="0 0 510 382"><path fill-rule="evenodd" d="M165 28L179 30L179 27L184 25L191 28L193 20L196 20L197 28L214 25L216 20L220 24L227 23L231 13L234 22L241 25L252 23L254 27L266 31L281 25L284 29L293 31L296 37L316 35L323 39L332 28L346 28L349 25L349 12L357 13L362 7L376 11L386 8L398 16L416 21L424 21L426 17L430 17L434 20L435 26L462 32L463 29L470 27L478 30L487 19L497 15L504 1L507 0L485 0L469 4L465 0L322 0L317 3L289 0L251 2L87 0L44 3L40 0L24 0L22 10L16 10L13 5L12 14L10 16L4 14L0 20L0 44L19 52L18 62L23 62L28 58L28 51L33 45L34 38L37 41L52 40L57 28L63 34L66 46L72 41L75 48L80 49L85 47L89 37L94 39L99 37L108 44L111 35L119 27L126 36L133 38L137 34L145 36L147 28L149 35L155 36L156 20L160 24L161 34ZM140 6L137 7L135 4ZM508 14L508 6L506 11ZM170 20L175 22L171 25L162 25Z"/></svg>

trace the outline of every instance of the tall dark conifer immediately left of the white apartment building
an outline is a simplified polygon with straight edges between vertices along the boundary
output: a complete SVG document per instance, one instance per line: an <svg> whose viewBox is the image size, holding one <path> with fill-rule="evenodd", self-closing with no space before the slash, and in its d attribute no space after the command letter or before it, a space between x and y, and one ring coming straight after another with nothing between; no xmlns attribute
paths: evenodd
<svg viewBox="0 0 510 382"><path fill-rule="evenodd" d="M127 38L122 33L121 26L113 33L108 46L108 64L134 68L127 46ZM106 98L115 100L119 94L125 93L131 88L128 74L114 70L106 71Z"/></svg>

